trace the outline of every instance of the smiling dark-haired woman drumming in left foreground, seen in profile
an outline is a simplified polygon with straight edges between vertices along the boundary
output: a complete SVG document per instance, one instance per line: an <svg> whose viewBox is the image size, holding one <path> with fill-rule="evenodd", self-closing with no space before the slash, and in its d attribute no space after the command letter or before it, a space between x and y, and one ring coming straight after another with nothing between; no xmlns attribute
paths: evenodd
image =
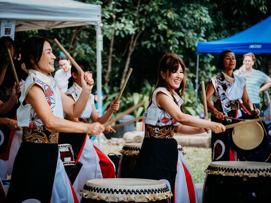
<svg viewBox="0 0 271 203"><path fill-rule="evenodd" d="M59 131L95 135L104 131L100 123L63 119L63 111L71 117L80 116L91 93L93 80L89 73L80 75L82 92L75 103L59 91L54 78L47 76L54 71L55 58L52 41L44 37L30 37L22 45L21 61L29 69L17 110L18 126L23 127L23 136L14 161L6 202L27 199L78 202L60 159L57 144Z"/></svg>

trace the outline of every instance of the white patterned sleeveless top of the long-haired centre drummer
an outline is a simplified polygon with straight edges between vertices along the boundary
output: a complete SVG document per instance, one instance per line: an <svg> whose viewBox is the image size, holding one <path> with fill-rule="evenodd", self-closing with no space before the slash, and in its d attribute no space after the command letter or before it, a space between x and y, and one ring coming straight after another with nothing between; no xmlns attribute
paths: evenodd
<svg viewBox="0 0 271 203"><path fill-rule="evenodd" d="M178 126L178 123L175 119L173 119L169 113L167 113L163 108L159 108L156 103L156 94L157 92L163 92L167 96L169 96L172 100L173 97L170 92L164 87L158 87L154 90L153 95L150 99L149 107L143 114L144 123L153 125L153 126L166 126L166 125L174 125ZM174 95L176 101L178 102L178 106L180 107L183 104L183 100L177 95Z"/></svg>

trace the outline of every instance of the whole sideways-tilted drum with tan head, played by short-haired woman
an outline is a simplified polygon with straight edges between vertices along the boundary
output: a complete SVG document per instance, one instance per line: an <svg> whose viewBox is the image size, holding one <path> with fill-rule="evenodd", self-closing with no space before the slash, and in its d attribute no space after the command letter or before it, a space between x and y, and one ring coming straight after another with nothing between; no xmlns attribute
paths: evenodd
<svg viewBox="0 0 271 203"><path fill-rule="evenodd" d="M263 125L268 132L266 124ZM240 161L271 162L271 136L263 134L263 128L259 123L250 123L229 130L228 142L237 152Z"/></svg>

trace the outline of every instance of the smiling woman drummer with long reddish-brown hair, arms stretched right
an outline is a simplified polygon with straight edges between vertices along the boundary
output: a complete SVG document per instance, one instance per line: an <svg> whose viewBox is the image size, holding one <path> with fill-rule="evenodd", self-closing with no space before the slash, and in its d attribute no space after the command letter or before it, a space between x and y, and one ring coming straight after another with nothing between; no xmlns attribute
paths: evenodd
<svg viewBox="0 0 271 203"><path fill-rule="evenodd" d="M178 149L174 130L182 134L205 132L206 128L220 133L221 123L198 119L183 113L185 64L177 54L165 54L158 66L158 80L143 114L145 137L133 170L134 178L166 179L174 193ZM174 202L174 195L171 199ZM182 202L181 200L178 200Z"/></svg>

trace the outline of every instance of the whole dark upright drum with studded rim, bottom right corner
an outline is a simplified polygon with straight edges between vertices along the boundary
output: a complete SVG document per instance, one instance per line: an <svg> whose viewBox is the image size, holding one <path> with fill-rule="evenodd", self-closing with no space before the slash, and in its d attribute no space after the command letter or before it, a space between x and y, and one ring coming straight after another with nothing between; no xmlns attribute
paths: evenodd
<svg viewBox="0 0 271 203"><path fill-rule="evenodd" d="M205 172L203 203L270 202L270 163L217 161Z"/></svg>

